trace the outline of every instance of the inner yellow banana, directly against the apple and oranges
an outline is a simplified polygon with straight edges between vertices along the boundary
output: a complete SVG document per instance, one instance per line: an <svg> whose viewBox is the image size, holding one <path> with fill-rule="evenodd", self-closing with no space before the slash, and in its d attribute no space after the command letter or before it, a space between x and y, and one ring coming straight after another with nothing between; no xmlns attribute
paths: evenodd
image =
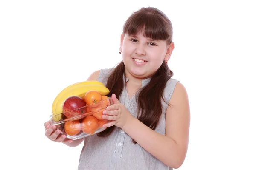
<svg viewBox="0 0 256 170"><path fill-rule="evenodd" d="M88 91L95 90L98 91L102 96L105 96L109 93L109 89L102 85L82 85L77 88L73 88L70 91L67 91L65 94L63 94L59 99L58 102L55 105L55 108L53 107L52 113L54 118L58 121L61 119L62 113L62 107L65 100L70 96L79 96L82 99L84 99L85 94Z"/></svg>

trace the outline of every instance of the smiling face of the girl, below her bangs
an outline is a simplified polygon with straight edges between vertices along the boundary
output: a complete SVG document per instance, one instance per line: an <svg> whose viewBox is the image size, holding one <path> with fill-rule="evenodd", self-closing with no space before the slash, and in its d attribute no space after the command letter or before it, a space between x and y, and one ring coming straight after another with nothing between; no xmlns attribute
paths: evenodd
<svg viewBox="0 0 256 170"><path fill-rule="evenodd" d="M170 59L173 49L173 42L167 44L165 40L151 40L143 34L121 35L120 51L125 71L137 78L151 77L164 60Z"/></svg>

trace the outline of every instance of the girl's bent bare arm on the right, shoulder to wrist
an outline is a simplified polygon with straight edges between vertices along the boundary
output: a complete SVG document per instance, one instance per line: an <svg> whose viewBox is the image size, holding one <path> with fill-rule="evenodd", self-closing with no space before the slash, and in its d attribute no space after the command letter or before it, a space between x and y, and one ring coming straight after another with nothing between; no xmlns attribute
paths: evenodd
<svg viewBox="0 0 256 170"><path fill-rule="evenodd" d="M189 101L181 83L177 83L169 103L172 106L166 110L165 136L133 117L122 129L157 159L177 169L186 157L190 125Z"/></svg>

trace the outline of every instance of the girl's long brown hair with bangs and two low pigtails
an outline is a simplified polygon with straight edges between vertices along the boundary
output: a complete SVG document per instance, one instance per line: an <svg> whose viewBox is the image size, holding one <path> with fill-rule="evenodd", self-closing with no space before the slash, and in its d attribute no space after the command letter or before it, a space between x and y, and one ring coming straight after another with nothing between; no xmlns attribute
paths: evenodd
<svg viewBox="0 0 256 170"><path fill-rule="evenodd" d="M172 23L163 14L162 11L148 7L141 8L134 12L128 20L126 20L123 27L123 34L136 35L139 31L143 33L144 37L153 40L166 40L167 43L172 42ZM108 77L106 87L110 90L108 96L116 94L117 99L125 87L123 81L123 74L125 72L125 65L120 62L113 72ZM161 99L163 98L163 90L166 82L173 76L173 72L169 69L166 63L162 63L160 68L151 77L150 82L144 88L137 92L138 115L137 119L145 125L155 130L162 114ZM169 101L165 101L167 104ZM106 130L97 133L98 136L108 136L114 130L115 126L108 127ZM133 140L134 143L136 143Z"/></svg>

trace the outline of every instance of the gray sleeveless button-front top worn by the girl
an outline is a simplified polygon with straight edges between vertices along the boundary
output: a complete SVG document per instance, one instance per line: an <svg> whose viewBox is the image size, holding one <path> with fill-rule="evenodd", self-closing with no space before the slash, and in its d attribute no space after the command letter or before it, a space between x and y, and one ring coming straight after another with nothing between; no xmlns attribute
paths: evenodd
<svg viewBox="0 0 256 170"><path fill-rule="evenodd" d="M111 71L112 69L102 69L98 81L106 85ZM128 78L125 80L123 77L123 79L128 81ZM150 79L144 79L142 87L147 85ZM163 93L166 101L169 102L177 82L172 78L167 82ZM119 102L124 104L134 117L137 117L136 95L129 99L125 89L122 91ZM162 101L162 107L163 113L155 131L165 135L165 113L168 105ZM139 144L134 144L130 136L116 127L108 137L99 137L95 134L84 139L78 170L172 170L172 168L169 169Z"/></svg>

